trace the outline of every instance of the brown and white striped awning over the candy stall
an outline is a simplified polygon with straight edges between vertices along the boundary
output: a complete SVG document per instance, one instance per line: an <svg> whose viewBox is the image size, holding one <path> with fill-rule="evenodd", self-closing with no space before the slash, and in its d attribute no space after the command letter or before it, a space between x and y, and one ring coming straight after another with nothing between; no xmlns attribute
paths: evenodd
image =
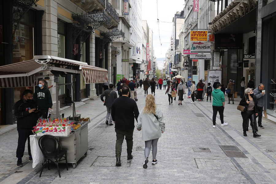
<svg viewBox="0 0 276 184"><path fill-rule="evenodd" d="M1 66L0 87L34 86L35 78L40 78L39 73L51 70L70 74L82 73L86 84L107 81L107 70L104 68L55 56L34 56L28 61Z"/></svg>

